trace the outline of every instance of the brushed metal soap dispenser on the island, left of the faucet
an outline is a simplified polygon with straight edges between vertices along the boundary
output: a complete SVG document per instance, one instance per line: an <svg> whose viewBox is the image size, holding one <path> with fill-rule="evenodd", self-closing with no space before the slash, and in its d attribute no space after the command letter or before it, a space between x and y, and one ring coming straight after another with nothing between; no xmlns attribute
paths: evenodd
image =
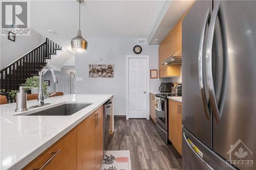
<svg viewBox="0 0 256 170"><path fill-rule="evenodd" d="M25 88L30 88L30 87L19 86L19 92L16 93L15 112L23 112L23 111L29 110L27 108L27 92L24 92Z"/></svg>

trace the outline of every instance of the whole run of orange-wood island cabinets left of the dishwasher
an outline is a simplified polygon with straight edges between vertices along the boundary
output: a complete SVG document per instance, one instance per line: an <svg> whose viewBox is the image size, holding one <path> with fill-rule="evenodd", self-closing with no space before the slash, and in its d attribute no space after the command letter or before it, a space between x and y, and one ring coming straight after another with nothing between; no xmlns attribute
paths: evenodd
<svg viewBox="0 0 256 170"><path fill-rule="evenodd" d="M51 157L44 170L99 170L103 158L103 106L23 169L39 169Z"/></svg>

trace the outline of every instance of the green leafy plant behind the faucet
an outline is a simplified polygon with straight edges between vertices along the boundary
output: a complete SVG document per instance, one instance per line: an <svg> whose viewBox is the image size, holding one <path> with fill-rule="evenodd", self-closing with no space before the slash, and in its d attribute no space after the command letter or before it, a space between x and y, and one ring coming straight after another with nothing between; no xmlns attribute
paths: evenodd
<svg viewBox="0 0 256 170"><path fill-rule="evenodd" d="M33 76L30 78L27 78L26 82L23 84L23 86L25 87L30 87L31 90L31 94L36 94L38 93L38 88L39 88L39 77L38 76ZM49 93L47 92L47 85L44 82L43 84L43 88L44 88L44 94L45 96L49 96ZM27 91L28 89L26 89Z"/></svg>

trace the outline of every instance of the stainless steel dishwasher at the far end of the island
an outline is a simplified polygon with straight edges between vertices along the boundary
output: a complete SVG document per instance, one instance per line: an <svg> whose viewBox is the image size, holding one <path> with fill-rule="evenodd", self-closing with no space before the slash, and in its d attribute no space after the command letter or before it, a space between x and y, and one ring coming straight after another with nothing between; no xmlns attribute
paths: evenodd
<svg viewBox="0 0 256 170"><path fill-rule="evenodd" d="M104 143L104 154L106 151L106 147L108 146L109 138L110 138L110 116L111 116L111 100L106 101L103 104L103 143Z"/></svg>

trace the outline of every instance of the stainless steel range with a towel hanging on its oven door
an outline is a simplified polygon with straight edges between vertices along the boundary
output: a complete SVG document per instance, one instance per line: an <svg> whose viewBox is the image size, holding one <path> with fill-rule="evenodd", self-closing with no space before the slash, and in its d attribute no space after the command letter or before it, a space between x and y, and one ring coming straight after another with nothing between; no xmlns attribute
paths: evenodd
<svg viewBox="0 0 256 170"><path fill-rule="evenodd" d="M158 93L156 94L156 130L168 143L168 99L167 96L181 96L181 94Z"/></svg>

